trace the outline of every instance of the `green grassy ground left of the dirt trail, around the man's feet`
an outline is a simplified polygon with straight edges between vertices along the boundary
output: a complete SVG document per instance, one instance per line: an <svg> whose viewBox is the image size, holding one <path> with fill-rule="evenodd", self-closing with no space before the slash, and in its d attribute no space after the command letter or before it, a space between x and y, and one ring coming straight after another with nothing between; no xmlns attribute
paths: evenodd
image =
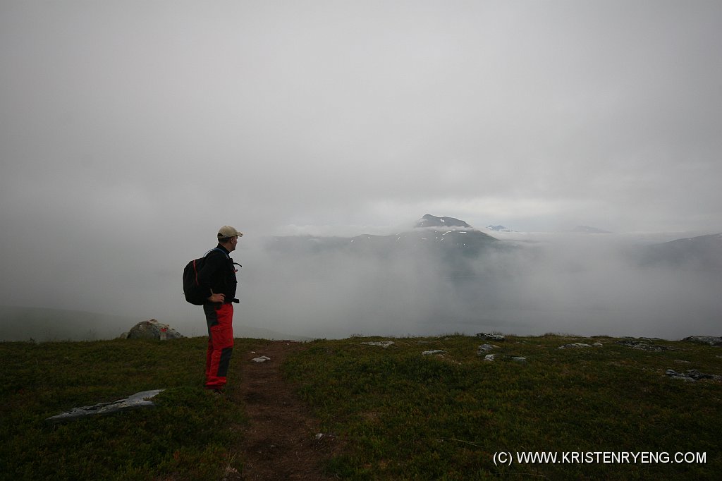
<svg viewBox="0 0 722 481"><path fill-rule="evenodd" d="M227 467L240 469L243 406L232 393L202 389L205 350L201 337L0 344L0 479L219 480ZM45 423L73 407L164 388L155 408Z"/></svg>

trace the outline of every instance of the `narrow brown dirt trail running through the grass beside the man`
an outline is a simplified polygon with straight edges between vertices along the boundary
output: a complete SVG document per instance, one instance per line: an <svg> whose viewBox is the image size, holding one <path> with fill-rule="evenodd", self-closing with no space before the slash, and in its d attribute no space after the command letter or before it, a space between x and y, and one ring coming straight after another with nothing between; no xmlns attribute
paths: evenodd
<svg viewBox="0 0 722 481"><path fill-rule="evenodd" d="M243 356L235 400L245 404L250 422L240 446L243 480L333 479L323 476L321 463L337 448L334 438L316 439L318 422L280 372L287 355L303 348L300 342L274 341L235 353ZM271 360L252 361L260 356Z"/></svg>

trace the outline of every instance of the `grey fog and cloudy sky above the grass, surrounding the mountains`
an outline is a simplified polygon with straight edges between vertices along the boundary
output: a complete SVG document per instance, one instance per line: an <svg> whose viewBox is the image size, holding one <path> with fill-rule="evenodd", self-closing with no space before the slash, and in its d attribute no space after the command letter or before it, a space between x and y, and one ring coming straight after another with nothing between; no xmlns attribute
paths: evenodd
<svg viewBox="0 0 722 481"><path fill-rule="evenodd" d="M718 279L624 233L722 232L720 45L716 1L1 1L0 306L204 334L181 271L232 225L239 329L709 331ZM426 212L619 234L500 235L466 277L267 247Z"/></svg>

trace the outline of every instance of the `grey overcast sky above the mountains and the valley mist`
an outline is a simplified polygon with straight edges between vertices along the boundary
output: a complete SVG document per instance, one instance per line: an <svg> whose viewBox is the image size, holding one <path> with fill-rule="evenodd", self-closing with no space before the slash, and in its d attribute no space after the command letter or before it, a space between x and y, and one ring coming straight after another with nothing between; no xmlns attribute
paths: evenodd
<svg viewBox="0 0 722 481"><path fill-rule="evenodd" d="M721 44L716 0L0 0L0 257L36 276L0 302L174 279L225 224L722 232Z"/></svg>

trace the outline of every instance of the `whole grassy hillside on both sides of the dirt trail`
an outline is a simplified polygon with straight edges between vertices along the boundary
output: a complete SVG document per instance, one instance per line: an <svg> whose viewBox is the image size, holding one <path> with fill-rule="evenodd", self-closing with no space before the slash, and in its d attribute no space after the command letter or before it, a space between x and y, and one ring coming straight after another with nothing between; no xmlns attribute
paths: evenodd
<svg viewBox="0 0 722 481"><path fill-rule="evenodd" d="M344 452L341 479L713 479L721 472L721 381L686 382L666 369L722 374L719 347L560 336L309 342L284 365L323 432ZM569 342L603 347L560 350ZM236 339L236 350L258 343ZM493 362L477 347L495 344ZM242 404L200 386L206 339L0 343L0 479L220 480L242 472ZM426 350L443 350L422 355ZM520 363L513 357L526 358ZM232 359L238 376L241 356ZM230 389L235 389L230 382ZM49 425L72 407L162 389L155 408ZM495 465L518 451L704 453L705 462ZM664 458L663 458L664 459Z"/></svg>

